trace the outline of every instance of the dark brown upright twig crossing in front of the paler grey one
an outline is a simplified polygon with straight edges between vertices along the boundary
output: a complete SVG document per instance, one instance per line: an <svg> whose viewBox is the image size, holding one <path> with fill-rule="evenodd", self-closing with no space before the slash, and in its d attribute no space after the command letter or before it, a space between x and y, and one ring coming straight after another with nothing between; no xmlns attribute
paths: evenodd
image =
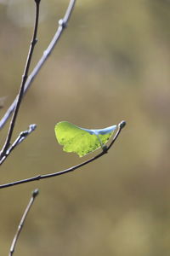
<svg viewBox="0 0 170 256"><path fill-rule="evenodd" d="M11 137L12 137L13 131L14 131L15 121L16 121L16 118L17 118L17 115L18 115L18 112L19 112L19 109L20 109L20 103L22 102L22 98L23 98L23 95L24 95L26 79L28 78L28 73L29 73L29 68L30 68L30 65L31 65L31 59L32 59L34 47L37 43L37 27L38 27L38 19L39 19L40 0L35 0L35 3L36 3L36 15L35 15L35 25L34 25L34 29L33 29L33 36L32 36L32 39L31 39L31 45L30 45L30 49L29 49L27 59L26 59L26 66L25 66L24 74L22 76L22 81L21 81L21 84L20 84L20 91L19 91L19 94L17 96L17 101L16 101L16 105L15 105L15 108L14 108L14 114L13 114L13 117L12 117L10 125L9 125L8 135L7 135L6 141L3 145L3 149L1 151L0 159L3 159L3 156L6 154L6 151L8 150L8 147L10 145Z"/></svg>

